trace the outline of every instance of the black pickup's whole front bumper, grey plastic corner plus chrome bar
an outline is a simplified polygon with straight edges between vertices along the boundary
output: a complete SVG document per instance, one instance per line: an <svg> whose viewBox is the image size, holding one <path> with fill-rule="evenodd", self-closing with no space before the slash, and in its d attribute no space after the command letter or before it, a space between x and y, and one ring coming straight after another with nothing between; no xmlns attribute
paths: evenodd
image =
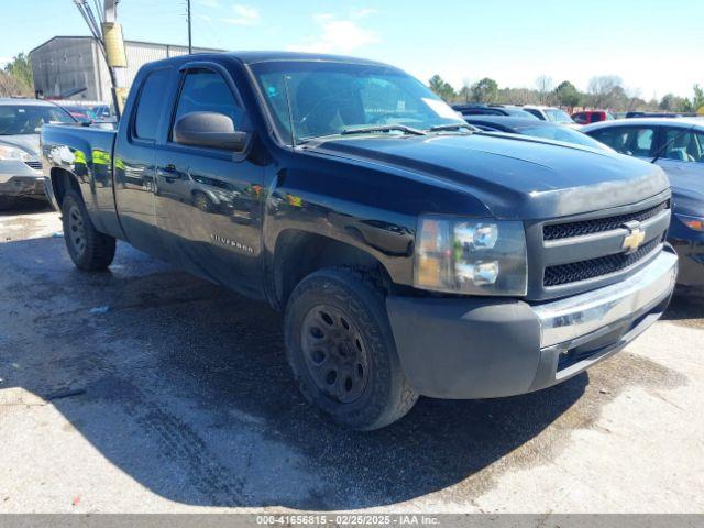
<svg viewBox="0 0 704 528"><path fill-rule="evenodd" d="M388 296L386 308L416 392L496 398L550 387L628 345L666 310L676 273L666 245L625 280L560 300Z"/></svg>

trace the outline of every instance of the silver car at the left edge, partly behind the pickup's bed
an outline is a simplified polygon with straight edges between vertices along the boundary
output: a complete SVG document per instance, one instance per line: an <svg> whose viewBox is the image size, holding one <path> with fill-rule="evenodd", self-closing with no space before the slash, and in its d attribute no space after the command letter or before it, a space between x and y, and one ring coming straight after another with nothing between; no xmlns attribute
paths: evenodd
<svg viewBox="0 0 704 528"><path fill-rule="evenodd" d="M38 150L40 131L50 122L76 120L51 102L0 98L0 208L22 197L46 199Z"/></svg>

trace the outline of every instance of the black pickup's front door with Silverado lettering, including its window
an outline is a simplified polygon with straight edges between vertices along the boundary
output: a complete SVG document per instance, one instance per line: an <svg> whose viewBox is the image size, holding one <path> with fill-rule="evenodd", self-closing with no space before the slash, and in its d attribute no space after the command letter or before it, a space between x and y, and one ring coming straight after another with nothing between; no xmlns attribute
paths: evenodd
<svg viewBox="0 0 704 528"><path fill-rule="evenodd" d="M156 160L157 224L169 258L206 278L260 296L264 167L249 154L176 143L174 124L190 112L228 116L252 132L229 73L212 63L182 68L179 91Z"/></svg>

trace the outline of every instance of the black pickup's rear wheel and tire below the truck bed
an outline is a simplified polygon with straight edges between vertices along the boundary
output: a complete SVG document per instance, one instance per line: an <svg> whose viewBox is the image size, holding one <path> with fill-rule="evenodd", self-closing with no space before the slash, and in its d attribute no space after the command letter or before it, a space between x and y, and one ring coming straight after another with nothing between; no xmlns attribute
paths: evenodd
<svg viewBox="0 0 704 528"><path fill-rule="evenodd" d="M62 205L64 240L70 258L78 270L107 270L114 258L116 240L96 230L81 196L72 189Z"/></svg>

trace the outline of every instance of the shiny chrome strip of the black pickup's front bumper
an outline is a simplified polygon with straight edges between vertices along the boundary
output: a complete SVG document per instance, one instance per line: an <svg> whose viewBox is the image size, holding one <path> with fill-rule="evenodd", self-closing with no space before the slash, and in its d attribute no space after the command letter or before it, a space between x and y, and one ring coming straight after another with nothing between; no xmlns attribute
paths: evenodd
<svg viewBox="0 0 704 528"><path fill-rule="evenodd" d="M573 341L668 298L678 275L678 256L662 251L626 280L565 299L532 306L540 322L540 348Z"/></svg>

